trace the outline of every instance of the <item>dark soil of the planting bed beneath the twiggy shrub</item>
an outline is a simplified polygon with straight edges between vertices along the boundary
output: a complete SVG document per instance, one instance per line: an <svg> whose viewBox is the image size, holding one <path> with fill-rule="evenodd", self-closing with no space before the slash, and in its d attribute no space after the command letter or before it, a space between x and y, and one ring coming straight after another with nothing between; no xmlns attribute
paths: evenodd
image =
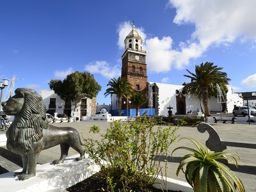
<svg viewBox="0 0 256 192"><path fill-rule="evenodd" d="M138 191L138 192L161 192L162 190L156 189L156 188L148 188L148 189L140 189L138 186L134 186L131 188L132 191ZM106 180L102 179L100 177L100 173L95 173L88 179L85 179L79 183L77 183L74 186L71 186L70 188L67 188L67 191L71 192L82 192L82 191L88 191L88 192L94 192L94 191L108 191L106 186ZM116 190L116 191L122 191L122 190ZM169 191L168 192L175 192L175 191ZM176 191L176 192L182 192L182 191Z"/></svg>

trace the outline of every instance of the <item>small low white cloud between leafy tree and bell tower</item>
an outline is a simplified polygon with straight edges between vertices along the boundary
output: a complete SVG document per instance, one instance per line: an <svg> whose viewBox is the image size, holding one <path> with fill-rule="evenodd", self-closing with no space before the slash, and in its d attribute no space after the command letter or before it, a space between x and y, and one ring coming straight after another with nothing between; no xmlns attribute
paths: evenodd
<svg viewBox="0 0 256 192"><path fill-rule="evenodd" d="M95 61L84 66L84 70L92 74L101 74L109 79L120 76L120 67L118 65L111 66L106 61Z"/></svg>

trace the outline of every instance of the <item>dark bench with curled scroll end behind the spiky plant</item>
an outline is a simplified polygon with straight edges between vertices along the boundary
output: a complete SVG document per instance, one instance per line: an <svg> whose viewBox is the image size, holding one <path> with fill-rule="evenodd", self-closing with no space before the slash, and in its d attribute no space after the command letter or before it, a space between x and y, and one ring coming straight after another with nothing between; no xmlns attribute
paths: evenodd
<svg viewBox="0 0 256 192"><path fill-rule="evenodd" d="M209 133L209 138L205 141L206 147L214 152L223 152L223 150L227 149L227 146L230 147L243 147L243 148L256 148L256 144L253 143L237 143L230 141L221 141L220 136L216 132L216 130L209 124L200 123L197 126L197 130L199 132L207 131Z"/></svg>

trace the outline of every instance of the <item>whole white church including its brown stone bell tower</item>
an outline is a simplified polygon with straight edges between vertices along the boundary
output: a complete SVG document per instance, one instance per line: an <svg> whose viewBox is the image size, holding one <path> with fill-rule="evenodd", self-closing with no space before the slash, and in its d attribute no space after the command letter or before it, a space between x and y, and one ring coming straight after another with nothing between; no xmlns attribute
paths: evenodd
<svg viewBox="0 0 256 192"><path fill-rule="evenodd" d="M184 115L200 111L200 101L193 95L186 95L182 92L184 85L149 83L147 81L147 52L143 51L143 39L132 25L132 31L124 40L125 51L122 55L122 75L131 83L134 92L147 94L148 103L141 106L141 112L147 115L168 115L168 108L173 108L173 114ZM159 63L161 65L161 63ZM219 104L216 97L209 99L210 111L232 113L235 105L243 105L241 99L231 88L228 88L227 102ZM150 99L151 98L151 99ZM118 110L117 97L111 95L111 106L113 115L117 115ZM135 115L136 107L122 100L122 115ZM204 107L203 107L204 108ZM140 114L142 114L140 112Z"/></svg>

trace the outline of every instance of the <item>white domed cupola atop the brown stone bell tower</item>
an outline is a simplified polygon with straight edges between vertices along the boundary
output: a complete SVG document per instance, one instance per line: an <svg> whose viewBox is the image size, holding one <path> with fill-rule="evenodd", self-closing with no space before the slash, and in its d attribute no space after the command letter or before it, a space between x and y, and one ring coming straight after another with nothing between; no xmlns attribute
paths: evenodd
<svg viewBox="0 0 256 192"><path fill-rule="evenodd" d="M134 51L142 51L143 40L138 31L135 30L134 24L132 24L132 31L125 37L124 49L131 49Z"/></svg>

